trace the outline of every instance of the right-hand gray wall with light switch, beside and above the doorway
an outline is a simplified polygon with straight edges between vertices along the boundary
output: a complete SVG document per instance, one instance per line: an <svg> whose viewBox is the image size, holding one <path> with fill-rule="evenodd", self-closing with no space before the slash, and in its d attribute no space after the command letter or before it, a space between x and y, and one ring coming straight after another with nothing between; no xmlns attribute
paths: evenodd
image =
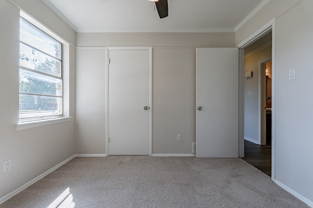
<svg viewBox="0 0 313 208"><path fill-rule="evenodd" d="M236 32L236 44L276 17L276 182L313 205L313 1L271 0ZM274 67L274 66L273 66ZM289 81L289 70L296 79ZM299 196L299 195L298 195ZM309 202L310 200L311 202Z"/></svg>

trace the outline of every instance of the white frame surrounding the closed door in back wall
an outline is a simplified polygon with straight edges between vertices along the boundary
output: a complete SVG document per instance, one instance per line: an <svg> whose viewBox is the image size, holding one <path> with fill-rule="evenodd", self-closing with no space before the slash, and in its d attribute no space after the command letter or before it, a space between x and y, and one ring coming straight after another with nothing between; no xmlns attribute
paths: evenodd
<svg viewBox="0 0 313 208"><path fill-rule="evenodd" d="M109 151L109 57L110 50L148 50L149 51L149 155L152 155L152 46L107 46L106 47L106 116L105 116L105 145L106 156Z"/></svg>

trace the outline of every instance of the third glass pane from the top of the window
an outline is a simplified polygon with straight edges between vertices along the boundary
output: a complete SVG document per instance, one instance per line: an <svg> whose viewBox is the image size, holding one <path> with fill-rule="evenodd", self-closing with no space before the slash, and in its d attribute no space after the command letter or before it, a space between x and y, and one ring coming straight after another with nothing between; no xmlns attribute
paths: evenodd
<svg viewBox="0 0 313 208"><path fill-rule="evenodd" d="M62 96L62 79L20 69L20 92Z"/></svg>

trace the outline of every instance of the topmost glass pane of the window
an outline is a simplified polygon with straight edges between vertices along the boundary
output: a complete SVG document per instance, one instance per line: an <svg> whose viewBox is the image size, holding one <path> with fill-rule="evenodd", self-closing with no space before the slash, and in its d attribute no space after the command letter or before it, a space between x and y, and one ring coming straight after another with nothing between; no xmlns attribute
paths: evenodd
<svg viewBox="0 0 313 208"><path fill-rule="evenodd" d="M51 38L22 18L20 20L20 40L52 57L58 59L62 57L62 45L59 41Z"/></svg>

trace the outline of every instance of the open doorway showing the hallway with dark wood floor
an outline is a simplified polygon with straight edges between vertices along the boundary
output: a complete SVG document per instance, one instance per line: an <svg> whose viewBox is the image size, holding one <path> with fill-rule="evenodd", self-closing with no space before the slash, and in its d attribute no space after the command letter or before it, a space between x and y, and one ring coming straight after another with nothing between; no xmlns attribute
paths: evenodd
<svg viewBox="0 0 313 208"><path fill-rule="evenodd" d="M272 33L245 48L245 157L271 176L271 59Z"/></svg>

